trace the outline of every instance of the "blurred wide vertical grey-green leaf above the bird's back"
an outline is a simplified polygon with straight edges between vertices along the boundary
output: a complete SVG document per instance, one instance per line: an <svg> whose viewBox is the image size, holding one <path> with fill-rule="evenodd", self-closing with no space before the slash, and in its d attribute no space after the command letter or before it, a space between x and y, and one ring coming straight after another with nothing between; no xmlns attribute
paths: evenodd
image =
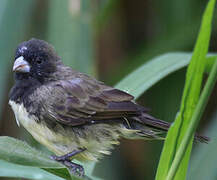
<svg viewBox="0 0 217 180"><path fill-rule="evenodd" d="M93 75L95 62L90 3L85 0L51 1L48 41L66 65Z"/></svg>

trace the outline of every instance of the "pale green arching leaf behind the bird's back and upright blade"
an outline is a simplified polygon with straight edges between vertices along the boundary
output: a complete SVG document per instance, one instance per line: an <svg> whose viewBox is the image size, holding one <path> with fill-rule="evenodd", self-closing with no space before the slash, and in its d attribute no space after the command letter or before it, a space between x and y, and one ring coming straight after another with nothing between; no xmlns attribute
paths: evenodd
<svg viewBox="0 0 217 180"><path fill-rule="evenodd" d="M115 87L134 95L135 98L138 98L142 93L161 79L187 66L190 62L191 56L191 53L177 52L155 57L143 64L134 72L130 73ZM212 67L215 57L215 54L210 54L207 57L207 72L209 72L210 67Z"/></svg>

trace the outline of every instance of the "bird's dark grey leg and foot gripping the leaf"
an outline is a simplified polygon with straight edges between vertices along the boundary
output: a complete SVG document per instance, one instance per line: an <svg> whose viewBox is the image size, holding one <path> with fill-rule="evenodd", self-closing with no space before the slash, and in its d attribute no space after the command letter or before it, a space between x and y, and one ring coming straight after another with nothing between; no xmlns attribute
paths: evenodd
<svg viewBox="0 0 217 180"><path fill-rule="evenodd" d="M84 168L79 165L79 164L76 164L76 163L73 163L71 162L71 157L85 151L86 149L85 148L82 148L82 149L78 149L78 150L74 150L68 154L65 154L63 156L51 156L51 159L55 160L55 161L58 161L60 163L62 163L63 165L65 165L66 167L69 168L69 170L73 173L73 174L76 174L76 175L79 175L79 176L84 176Z"/></svg>

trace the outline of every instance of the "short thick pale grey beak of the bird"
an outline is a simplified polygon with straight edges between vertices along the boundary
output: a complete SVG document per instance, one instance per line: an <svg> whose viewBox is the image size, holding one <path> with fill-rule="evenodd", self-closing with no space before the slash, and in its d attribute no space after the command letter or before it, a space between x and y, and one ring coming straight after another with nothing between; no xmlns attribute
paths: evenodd
<svg viewBox="0 0 217 180"><path fill-rule="evenodd" d="M14 62L13 71L28 73L30 72L30 65L23 56L20 56Z"/></svg>

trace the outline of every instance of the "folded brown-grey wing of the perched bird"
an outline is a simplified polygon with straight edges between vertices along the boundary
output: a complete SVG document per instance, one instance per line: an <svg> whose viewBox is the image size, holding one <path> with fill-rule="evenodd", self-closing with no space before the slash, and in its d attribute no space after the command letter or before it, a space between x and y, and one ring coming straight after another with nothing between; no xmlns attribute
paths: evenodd
<svg viewBox="0 0 217 180"><path fill-rule="evenodd" d="M133 96L92 79L76 77L46 85L44 118L77 126L135 116L139 106Z"/></svg>

